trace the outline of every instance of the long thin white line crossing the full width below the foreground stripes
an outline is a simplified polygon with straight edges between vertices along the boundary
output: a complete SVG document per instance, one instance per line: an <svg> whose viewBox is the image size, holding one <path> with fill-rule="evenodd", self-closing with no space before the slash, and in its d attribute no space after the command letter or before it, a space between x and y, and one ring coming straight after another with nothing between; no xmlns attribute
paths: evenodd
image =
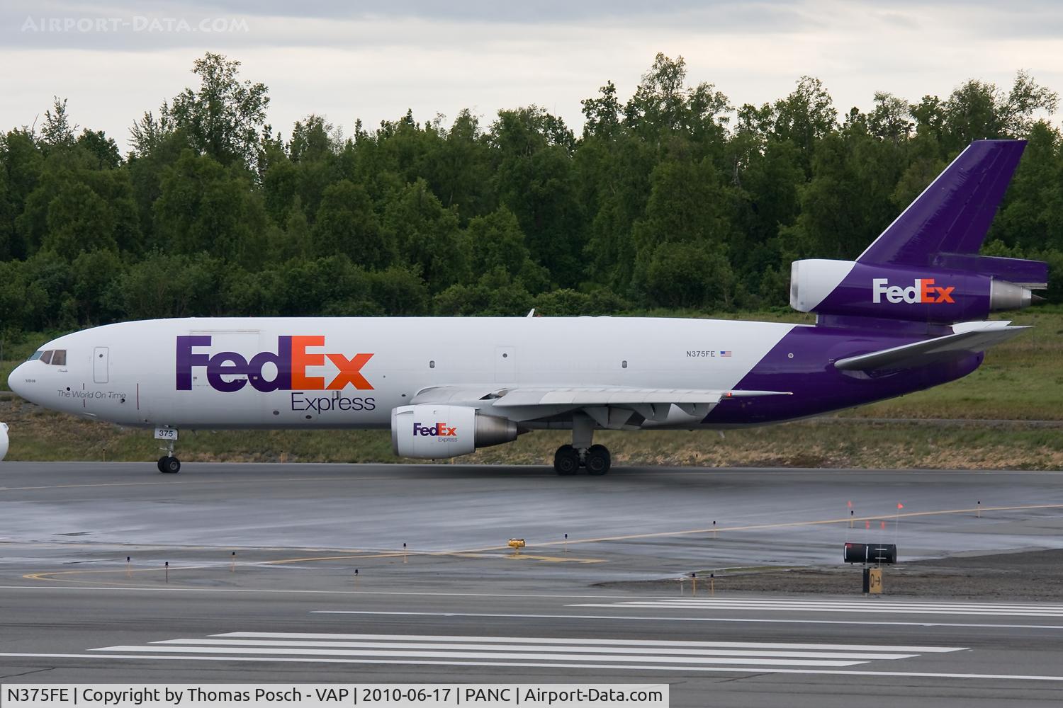
<svg viewBox="0 0 1063 708"><path fill-rule="evenodd" d="M857 671L843 669L773 669L759 667L669 667L669 666L617 666L611 663L536 663L514 661L403 661L395 659L328 659L305 657L258 657L258 656L149 656L144 654L34 654L17 652L0 652L0 656L22 657L34 659L134 659L141 661L259 661L269 663L385 663L385 664L424 664L444 667L518 667L557 669L623 669L624 671L684 671L687 673L762 673L762 674L807 674L827 676L897 676L906 678L961 678L961 679L999 679L1020 681L1063 681L1063 676L1040 676L1030 674L959 674L959 673L924 673L916 671ZM583 657L587 658L587 657Z"/></svg>

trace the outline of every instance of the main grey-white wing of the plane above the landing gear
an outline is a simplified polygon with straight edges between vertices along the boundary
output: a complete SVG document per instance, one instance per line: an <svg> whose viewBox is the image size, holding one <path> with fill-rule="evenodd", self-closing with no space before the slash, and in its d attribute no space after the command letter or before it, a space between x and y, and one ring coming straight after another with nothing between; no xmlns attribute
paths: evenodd
<svg viewBox="0 0 1063 708"><path fill-rule="evenodd" d="M631 386L431 386L410 403L473 405L510 420L536 420L583 412L603 428L623 428L634 414L651 425L701 420L722 400L789 396L787 391L638 388Z"/></svg>

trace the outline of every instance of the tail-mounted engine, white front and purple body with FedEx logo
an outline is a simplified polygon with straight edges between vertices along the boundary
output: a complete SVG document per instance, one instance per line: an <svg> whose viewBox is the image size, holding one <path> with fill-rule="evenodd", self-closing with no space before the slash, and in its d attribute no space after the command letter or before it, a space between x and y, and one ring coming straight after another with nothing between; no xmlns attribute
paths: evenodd
<svg viewBox="0 0 1063 708"><path fill-rule="evenodd" d="M800 312L956 323L1031 301L1028 288L950 269L810 259L790 271L790 307Z"/></svg>

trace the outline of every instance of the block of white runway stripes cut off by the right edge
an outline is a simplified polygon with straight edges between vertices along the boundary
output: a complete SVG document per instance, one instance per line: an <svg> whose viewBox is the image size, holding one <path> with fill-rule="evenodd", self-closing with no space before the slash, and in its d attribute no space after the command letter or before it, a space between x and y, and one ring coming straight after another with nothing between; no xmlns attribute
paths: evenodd
<svg viewBox="0 0 1063 708"><path fill-rule="evenodd" d="M568 607L614 609L702 609L711 611L759 610L782 612L831 612L861 615L966 615L991 617L1063 617L1063 605L981 604L957 602L897 602L879 600L757 600L677 598L632 600L618 603L580 603Z"/></svg>

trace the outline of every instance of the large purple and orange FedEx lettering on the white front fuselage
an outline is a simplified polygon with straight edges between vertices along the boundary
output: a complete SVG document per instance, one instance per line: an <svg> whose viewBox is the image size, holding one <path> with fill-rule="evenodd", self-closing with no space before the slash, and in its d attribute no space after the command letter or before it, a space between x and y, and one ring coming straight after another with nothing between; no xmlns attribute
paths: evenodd
<svg viewBox="0 0 1063 708"><path fill-rule="evenodd" d="M323 335L276 338L276 351L259 351L248 358L236 351L219 351L214 355L198 351L210 346L209 334L193 334L178 338L178 391L192 390L192 369L205 368L207 384L225 393L239 391L248 383L257 391L340 391L352 385L359 391L372 391L371 384L361 374L361 368L373 357L372 353L356 353L348 358L341 353L311 351L323 348ZM324 366L325 359L337 369L327 385L325 377L310 376L311 366ZM272 364L266 378L266 366Z"/></svg>

